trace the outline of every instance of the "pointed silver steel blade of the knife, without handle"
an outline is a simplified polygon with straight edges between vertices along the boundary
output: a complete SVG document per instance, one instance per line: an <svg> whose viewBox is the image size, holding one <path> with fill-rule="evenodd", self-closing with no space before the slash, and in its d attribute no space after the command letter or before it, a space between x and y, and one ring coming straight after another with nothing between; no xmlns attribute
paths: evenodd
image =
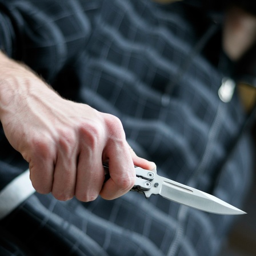
<svg viewBox="0 0 256 256"><path fill-rule="evenodd" d="M229 205L221 199L193 187L183 185L155 174L150 191L145 191L146 197L159 194L174 202L216 214L245 214L244 211Z"/></svg>

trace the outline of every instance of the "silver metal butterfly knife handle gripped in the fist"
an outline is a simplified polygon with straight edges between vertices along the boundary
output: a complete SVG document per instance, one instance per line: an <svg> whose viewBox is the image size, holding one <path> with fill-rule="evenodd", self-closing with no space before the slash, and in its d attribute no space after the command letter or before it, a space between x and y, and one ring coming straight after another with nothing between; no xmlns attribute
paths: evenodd
<svg viewBox="0 0 256 256"><path fill-rule="evenodd" d="M109 166L103 163L105 169L105 182L110 178ZM151 189L153 179L155 178L155 173L153 171L142 169L141 167L135 167L136 180L131 191L138 191L145 194L145 191Z"/></svg>

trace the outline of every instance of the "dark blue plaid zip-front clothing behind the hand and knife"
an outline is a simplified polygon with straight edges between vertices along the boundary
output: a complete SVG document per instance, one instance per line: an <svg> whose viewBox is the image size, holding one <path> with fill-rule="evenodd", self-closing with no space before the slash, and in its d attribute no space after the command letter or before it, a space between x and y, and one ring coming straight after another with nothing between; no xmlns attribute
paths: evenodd
<svg viewBox="0 0 256 256"><path fill-rule="evenodd" d="M7 54L65 97L117 115L131 147L154 161L159 174L241 207L251 178L250 138L243 135L229 155L245 113L236 92L228 103L219 99L226 70L201 47L207 33L218 33L207 15L201 29L180 2L0 3L0 43ZM1 140L7 144L3 134ZM2 187L25 169L6 148ZM0 221L0 249L3 255L16 249L47 256L216 255L233 221L134 192L90 203L35 193Z"/></svg>

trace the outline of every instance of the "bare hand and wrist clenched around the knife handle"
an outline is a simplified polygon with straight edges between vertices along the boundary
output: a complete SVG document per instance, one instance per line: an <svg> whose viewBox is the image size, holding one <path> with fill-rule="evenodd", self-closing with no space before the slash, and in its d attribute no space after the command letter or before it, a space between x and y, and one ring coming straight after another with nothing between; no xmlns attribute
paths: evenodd
<svg viewBox="0 0 256 256"><path fill-rule="evenodd" d="M0 119L10 144L29 162L35 190L59 200L120 197L134 185L134 165L155 167L131 150L117 117L61 98L1 52ZM103 185L106 161L111 178Z"/></svg>

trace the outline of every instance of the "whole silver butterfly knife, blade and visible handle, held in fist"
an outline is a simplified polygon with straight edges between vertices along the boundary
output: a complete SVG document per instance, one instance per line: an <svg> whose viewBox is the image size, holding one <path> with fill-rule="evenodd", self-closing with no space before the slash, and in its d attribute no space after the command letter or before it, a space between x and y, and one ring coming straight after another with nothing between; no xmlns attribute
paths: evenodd
<svg viewBox="0 0 256 256"><path fill-rule="evenodd" d="M105 163L103 167L106 174L105 181L107 181L110 178L109 167ZM152 194L161 195L163 198L209 213L246 214L245 211L239 210L213 195L159 176L156 169L149 171L141 167L135 167L135 172L136 180L131 190L145 194L146 198L149 198Z"/></svg>

